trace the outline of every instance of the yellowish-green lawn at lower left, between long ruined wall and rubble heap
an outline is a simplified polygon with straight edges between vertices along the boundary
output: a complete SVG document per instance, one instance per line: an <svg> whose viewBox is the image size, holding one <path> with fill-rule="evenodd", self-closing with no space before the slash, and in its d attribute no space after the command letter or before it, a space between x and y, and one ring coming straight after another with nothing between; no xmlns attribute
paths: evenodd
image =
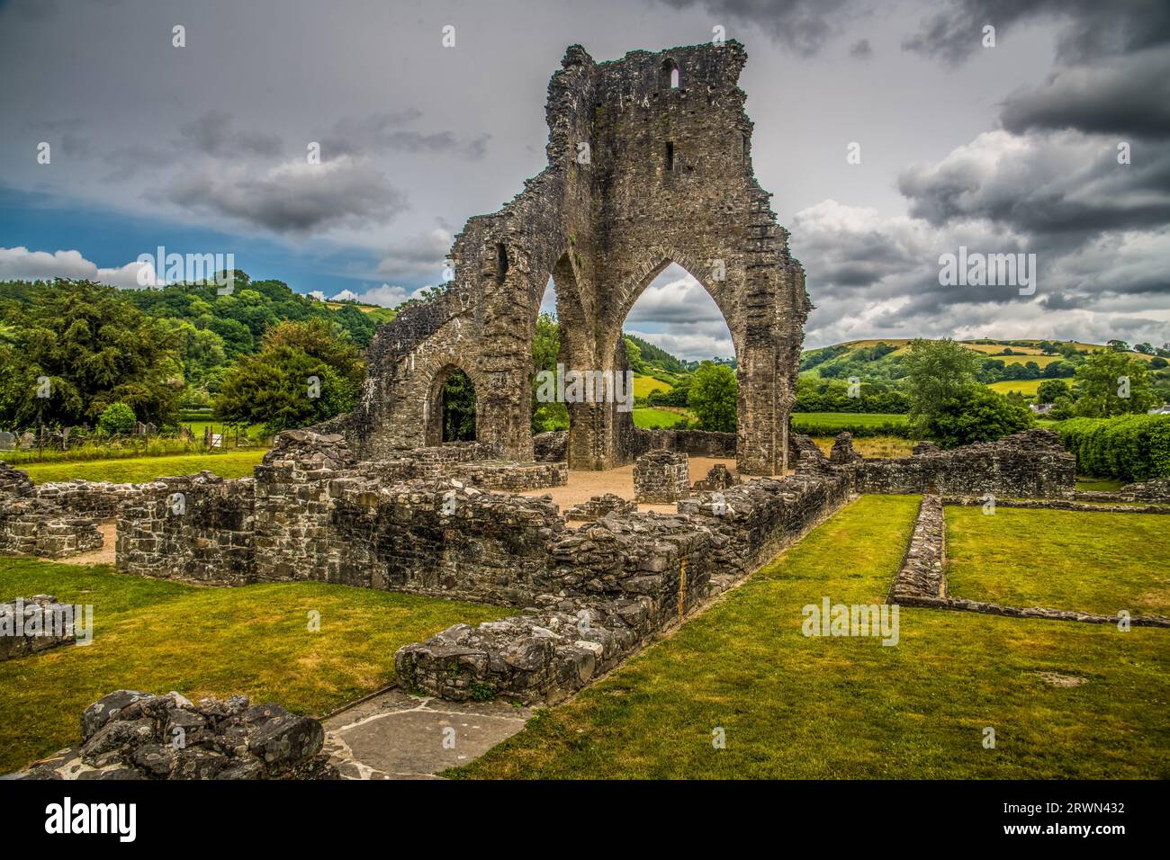
<svg viewBox="0 0 1170 860"><path fill-rule="evenodd" d="M0 559L0 599L36 593L92 604L94 641L0 662L0 773L76 743L82 710L117 689L192 700L242 693L323 715L390 683L400 646L507 614L328 583L206 589Z"/></svg>

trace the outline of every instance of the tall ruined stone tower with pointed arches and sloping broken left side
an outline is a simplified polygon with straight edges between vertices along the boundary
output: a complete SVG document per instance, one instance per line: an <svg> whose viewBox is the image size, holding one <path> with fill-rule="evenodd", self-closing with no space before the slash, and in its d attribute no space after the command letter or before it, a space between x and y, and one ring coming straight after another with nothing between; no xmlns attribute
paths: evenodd
<svg viewBox="0 0 1170 860"><path fill-rule="evenodd" d="M362 403L337 425L356 453L381 459L439 443L442 386L460 369L475 384L477 439L530 460L531 348L550 275L559 360L620 371L627 314L676 262L731 331L738 470L785 467L811 305L787 232L751 170L752 124L737 85L746 59L734 41L606 63L569 48L549 82L549 166L498 212L468 220L441 297L378 331ZM628 413L612 403L569 410L571 468L628 461Z"/></svg>

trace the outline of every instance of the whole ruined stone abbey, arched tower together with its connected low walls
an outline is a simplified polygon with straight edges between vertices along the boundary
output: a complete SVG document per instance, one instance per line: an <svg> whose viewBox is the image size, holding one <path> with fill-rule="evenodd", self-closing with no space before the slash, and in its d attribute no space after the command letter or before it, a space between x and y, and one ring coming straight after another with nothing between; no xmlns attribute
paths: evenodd
<svg viewBox="0 0 1170 860"><path fill-rule="evenodd" d="M282 433L252 477L34 486L0 463L0 551L91 549L113 518L123 573L311 579L509 606L512 617L386 659L412 692L534 702L589 683L859 494L1071 503L1074 457L1048 431L899 459L862 457L848 434L826 456L790 432L811 305L752 176L745 61L736 42L606 63L569 48L549 84L549 166L467 222L442 295L379 330L356 411ZM531 351L549 277L560 362L624 371L626 315L672 261L728 322L737 432L636 429L617 404L586 401L569 405L566 433L534 438ZM455 370L476 388L475 442L442 440ZM693 474L698 456L734 460L735 472ZM563 511L542 495L573 472L629 463L627 498ZM909 580L937 597L929 567L941 553L922 557L928 570Z"/></svg>

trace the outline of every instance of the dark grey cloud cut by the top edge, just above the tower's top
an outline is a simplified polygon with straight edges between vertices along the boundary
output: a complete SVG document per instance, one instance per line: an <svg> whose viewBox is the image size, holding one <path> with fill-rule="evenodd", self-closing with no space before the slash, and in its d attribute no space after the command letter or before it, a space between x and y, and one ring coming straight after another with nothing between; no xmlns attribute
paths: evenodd
<svg viewBox="0 0 1170 860"><path fill-rule="evenodd" d="M805 56L819 51L834 33L847 0L658 0L675 9L702 8L711 26L753 25L775 42ZM731 35L731 34L729 34Z"/></svg>

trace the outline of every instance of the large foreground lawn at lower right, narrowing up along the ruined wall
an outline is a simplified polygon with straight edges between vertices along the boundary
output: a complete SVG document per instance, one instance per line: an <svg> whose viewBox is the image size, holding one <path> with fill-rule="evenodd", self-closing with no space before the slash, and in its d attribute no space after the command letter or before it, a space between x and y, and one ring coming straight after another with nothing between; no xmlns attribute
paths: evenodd
<svg viewBox="0 0 1170 860"><path fill-rule="evenodd" d="M455 775L1170 777L1168 631L904 608L894 647L801 634L801 607L824 596L883 599L917 505L863 496ZM1038 672L1089 683L1054 687Z"/></svg>

